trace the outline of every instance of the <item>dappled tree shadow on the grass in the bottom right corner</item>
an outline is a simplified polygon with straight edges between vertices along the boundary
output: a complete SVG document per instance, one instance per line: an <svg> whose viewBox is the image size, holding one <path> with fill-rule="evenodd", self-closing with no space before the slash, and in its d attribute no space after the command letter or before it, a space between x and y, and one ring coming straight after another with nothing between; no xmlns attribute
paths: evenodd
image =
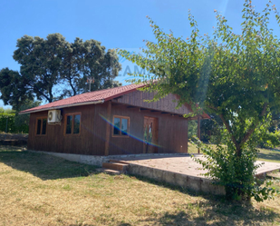
<svg viewBox="0 0 280 226"><path fill-rule="evenodd" d="M269 209L257 210L250 204L222 201L196 201L182 209L145 221L160 225L267 225L279 219L279 214Z"/></svg>

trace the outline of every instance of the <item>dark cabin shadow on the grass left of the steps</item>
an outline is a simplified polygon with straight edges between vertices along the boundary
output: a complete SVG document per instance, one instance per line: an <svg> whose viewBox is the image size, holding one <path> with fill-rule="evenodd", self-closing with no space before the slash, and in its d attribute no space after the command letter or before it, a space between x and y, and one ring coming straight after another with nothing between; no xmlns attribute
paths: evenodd
<svg viewBox="0 0 280 226"><path fill-rule="evenodd" d="M0 162L18 171L30 172L42 180L55 180L88 176L95 167L79 162L70 162L52 155L35 152L21 152L8 149L0 151Z"/></svg>

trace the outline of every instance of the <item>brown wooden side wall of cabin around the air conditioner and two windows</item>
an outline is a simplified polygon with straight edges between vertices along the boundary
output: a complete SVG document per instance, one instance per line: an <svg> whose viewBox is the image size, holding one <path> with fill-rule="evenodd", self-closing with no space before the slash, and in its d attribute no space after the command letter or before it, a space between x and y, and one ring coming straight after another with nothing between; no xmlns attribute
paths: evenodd
<svg viewBox="0 0 280 226"><path fill-rule="evenodd" d="M61 125L47 124L46 135L36 136L36 118L46 116L48 112L31 113L29 123L28 149L46 152L63 152L78 154L104 154L105 133L100 128L103 124L100 120L94 120L99 106L87 105L64 108L62 110L63 121ZM65 113L81 113L80 135L64 135Z"/></svg>

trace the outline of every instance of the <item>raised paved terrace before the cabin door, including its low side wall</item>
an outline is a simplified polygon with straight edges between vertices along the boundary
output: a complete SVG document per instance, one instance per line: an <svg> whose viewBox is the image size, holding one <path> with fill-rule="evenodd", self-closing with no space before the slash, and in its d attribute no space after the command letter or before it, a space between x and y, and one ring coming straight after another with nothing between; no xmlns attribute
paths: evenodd
<svg viewBox="0 0 280 226"><path fill-rule="evenodd" d="M204 158L202 154L194 154L197 158ZM112 156L111 156L112 157ZM168 182L196 192L225 194L222 186L212 183L212 180L201 175L206 171L201 165L192 160L188 154L155 154L114 156L115 160L129 163L129 173L137 174L159 182ZM266 176L267 172L280 170L280 163L261 162L256 175Z"/></svg>

